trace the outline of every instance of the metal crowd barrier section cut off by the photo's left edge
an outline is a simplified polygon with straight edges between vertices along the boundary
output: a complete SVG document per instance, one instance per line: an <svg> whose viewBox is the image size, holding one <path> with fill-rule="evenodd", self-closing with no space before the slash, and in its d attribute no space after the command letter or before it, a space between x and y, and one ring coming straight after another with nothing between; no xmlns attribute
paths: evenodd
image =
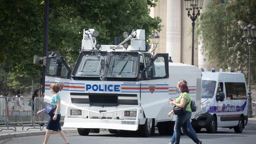
<svg viewBox="0 0 256 144"><path fill-rule="evenodd" d="M7 97L0 97L0 132L2 130L14 130L16 132L16 127L9 124L9 107L8 107L8 98ZM1 128L5 127L5 128ZM14 129L12 129L13 127Z"/></svg>

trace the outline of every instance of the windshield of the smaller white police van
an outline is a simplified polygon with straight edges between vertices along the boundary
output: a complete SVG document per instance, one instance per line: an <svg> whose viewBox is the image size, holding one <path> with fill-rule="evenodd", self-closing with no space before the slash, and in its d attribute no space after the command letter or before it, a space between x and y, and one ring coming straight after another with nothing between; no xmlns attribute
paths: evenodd
<svg viewBox="0 0 256 144"><path fill-rule="evenodd" d="M202 81L201 98L213 98L215 93L216 81Z"/></svg>

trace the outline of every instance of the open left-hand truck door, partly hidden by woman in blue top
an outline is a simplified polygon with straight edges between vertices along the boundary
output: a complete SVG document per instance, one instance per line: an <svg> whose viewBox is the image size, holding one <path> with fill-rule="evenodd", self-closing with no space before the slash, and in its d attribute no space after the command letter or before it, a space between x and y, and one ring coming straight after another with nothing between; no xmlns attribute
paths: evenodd
<svg viewBox="0 0 256 144"><path fill-rule="evenodd" d="M59 52L49 52L46 61L46 76L44 85L44 101L49 103L50 98L52 98L52 93L50 92L50 85L56 82L60 82L61 91L60 94L60 104L62 104L61 113L65 116L66 105L71 103L69 95L69 79L71 78L71 69L65 62L65 59Z"/></svg>

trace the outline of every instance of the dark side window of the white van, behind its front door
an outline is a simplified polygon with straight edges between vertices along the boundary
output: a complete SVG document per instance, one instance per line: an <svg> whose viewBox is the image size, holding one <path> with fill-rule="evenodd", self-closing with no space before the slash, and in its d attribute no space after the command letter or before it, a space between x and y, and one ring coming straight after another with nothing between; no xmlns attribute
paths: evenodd
<svg viewBox="0 0 256 144"><path fill-rule="evenodd" d="M244 100L247 92L244 82L225 82L227 100Z"/></svg>

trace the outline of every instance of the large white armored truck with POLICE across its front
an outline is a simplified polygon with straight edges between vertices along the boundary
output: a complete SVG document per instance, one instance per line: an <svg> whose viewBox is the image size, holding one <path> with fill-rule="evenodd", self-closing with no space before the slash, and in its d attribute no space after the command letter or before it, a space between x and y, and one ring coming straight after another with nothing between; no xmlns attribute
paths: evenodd
<svg viewBox="0 0 256 144"><path fill-rule="evenodd" d="M177 82L188 82L190 95L201 102L201 71L196 66L171 63L168 54L152 56L146 51L145 30L124 33L119 45L100 45L98 31L84 29L81 52L72 72L57 52L47 57L45 100L49 100L50 84L63 82L60 92L63 127L78 129L79 135L122 130L150 136L158 127L161 135L173 132L175 116L169 98L179 96ZM130 45L126 42L130 40Z"/></svg>

